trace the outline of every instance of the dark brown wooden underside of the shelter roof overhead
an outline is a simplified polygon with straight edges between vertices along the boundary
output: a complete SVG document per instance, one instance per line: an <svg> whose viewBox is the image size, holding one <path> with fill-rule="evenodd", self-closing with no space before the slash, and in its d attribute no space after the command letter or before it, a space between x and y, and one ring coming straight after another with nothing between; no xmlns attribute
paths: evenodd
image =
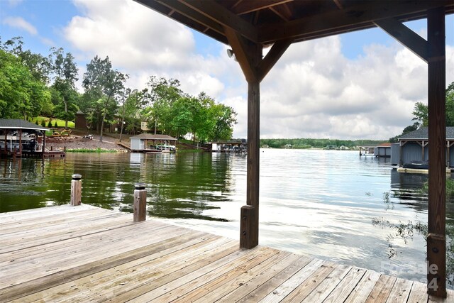
<svg viewBox="0 0 454 303"><path fill-rule="evenodd" d="M427 18L427 10L453 0L135 0L179 23L228 44L224 28L254 43L293 43L375 27L375 21Z"/></svg>

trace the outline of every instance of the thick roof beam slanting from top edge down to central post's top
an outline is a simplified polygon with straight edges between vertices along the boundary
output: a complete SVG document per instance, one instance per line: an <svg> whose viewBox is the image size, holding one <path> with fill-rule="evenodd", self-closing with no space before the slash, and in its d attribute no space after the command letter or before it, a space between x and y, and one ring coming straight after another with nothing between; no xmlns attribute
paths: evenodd
<svg viewBox="0 0 454 303"><path fill-rule="evenodd" d="M248 23L243 18L232 13L225 7L217 4L215 1L203 0L178 0L180 3L210 18L216 23L221 24L224 28L228 27L241 33L245 38L257 42L257 28ZM171 1L171 6L175 7L175 1Z"/></svg>

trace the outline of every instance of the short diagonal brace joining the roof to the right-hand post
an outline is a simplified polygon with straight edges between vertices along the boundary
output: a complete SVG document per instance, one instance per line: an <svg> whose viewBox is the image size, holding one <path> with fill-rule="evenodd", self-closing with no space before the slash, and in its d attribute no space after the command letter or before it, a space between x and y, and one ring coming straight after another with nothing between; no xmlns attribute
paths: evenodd
<svg viewBox="0 0 454 303"><path fill-rule="evenodd" d="M377 20L375 24L427 62L428 43L420 35L394 18Z"/></svg>

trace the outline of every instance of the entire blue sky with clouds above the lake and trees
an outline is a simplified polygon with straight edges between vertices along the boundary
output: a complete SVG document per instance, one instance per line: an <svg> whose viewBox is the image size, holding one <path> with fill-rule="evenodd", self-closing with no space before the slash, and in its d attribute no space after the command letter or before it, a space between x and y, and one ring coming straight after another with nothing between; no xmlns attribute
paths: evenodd
<svg viewBox="0 0 454 303"><path fill-rule="evenodd" d="M407 23L426 38L426 20ZM447 85L454 81L454 17L446 18ZM247 85L228 45L131 0L0 0L0 38L23 37L48 55L64 48L79 78L95 55L128 73L179 79L238 112L235 138L247 133ZM427 102L427 65L379 28L291 45L261 84L261 138L387 139ZM81 89L82 92L82 89Z"/></svg>

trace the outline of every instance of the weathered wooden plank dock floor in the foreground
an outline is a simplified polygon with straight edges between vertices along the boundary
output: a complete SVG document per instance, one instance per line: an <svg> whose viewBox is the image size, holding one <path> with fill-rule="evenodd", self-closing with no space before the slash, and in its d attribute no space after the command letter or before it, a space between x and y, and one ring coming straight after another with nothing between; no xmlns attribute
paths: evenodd
<svg viewBox="0 0 454 303"><path fill-rule="evenodd" d="M0 302L454 302L426 285L94 206L0 214Z"/></svg>

